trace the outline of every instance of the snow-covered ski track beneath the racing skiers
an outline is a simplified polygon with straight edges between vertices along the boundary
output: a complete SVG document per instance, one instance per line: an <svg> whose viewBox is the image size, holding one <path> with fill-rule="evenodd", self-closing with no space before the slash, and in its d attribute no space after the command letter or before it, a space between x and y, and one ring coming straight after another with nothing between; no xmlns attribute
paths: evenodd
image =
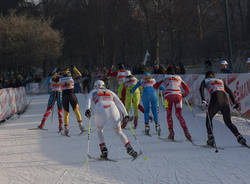
<svg viewBox="0 0 250 184"><path fill-rule="evenodd" d="M183 131L174 116L177 140L182 143L163 142L157 138L151 124L152 137L143 135L143 116L135 133L144 155L130 161L125 148L110 126L105 127L105 139L110 158L118 162L90 160L85 165L87 136L78 136L78 125L70 113L70 138L57 134L57 116L48 118L48 131L28 130L39 125L47 106L48 95L32 97L25 114L0 125L0 184L249 184L250 150L241 147L217 115L214 129L217 145L213 149L192 146L185 141ZM81 114L84 115L86 99L78 95ZM183 114L195 143L205 144L205 113L196 110L194 118L184 106ZM167 137L165 111L160 109L162 137ZM233 117L233 122L250 142L250 122ZM88 121L84 119L87 127ZM106 124L108 125L108 124ZM100 154L95 127L92 124L90 153ZM138 146L129 132L124 130L132 145ZM147 157L147 160L144 159Z"/></svg>

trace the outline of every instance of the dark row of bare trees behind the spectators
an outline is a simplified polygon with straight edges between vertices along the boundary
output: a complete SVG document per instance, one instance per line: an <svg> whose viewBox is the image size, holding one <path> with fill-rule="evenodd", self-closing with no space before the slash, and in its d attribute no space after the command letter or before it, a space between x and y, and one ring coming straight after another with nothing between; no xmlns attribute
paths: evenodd
<svg viewBox="0 0 250 184"><path fill-rule="evenodd" d="M47 42L47 51L54 55L41 54L45 52L37 49L45 66L48 65L46 62L51 67L68 63L82 68L116 63L135 66L142 63L146 50L150 53L149 65L195 64L203 63L205 58L228 57L226 1L229 2L232 63L235 71L239 71L244 68L243 63L250 54L249 0L41 0L39 3L16 0L16 4L2 0L6 6L0 3L0 11L6 16L10 7L16 8L18 15L26 14L21 16L23 19L36 17L41 24L46 22L60 31L55 31L57 36L47 33L50 35L48 39L52 39ZM46 34L47 31L44 31ZM55 40L56 51L50 47L54 47L51 42L55 43ZM29 46L32 47L32 44ZM21 45L18 47L22 48ZM27 50L33 53L35 48ZM5 52L4 60L19 62L17 57L20 56L20 61L35 61L37 55L26 57L26 52L21 50L12 53L7 52L6 56ZM240 62L242 65L239 65Z"/></svg>

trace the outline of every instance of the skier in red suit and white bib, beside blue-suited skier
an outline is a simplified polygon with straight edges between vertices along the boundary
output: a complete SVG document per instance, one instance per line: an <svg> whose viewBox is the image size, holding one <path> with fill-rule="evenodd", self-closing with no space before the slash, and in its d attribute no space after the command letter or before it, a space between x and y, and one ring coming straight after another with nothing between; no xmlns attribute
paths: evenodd
<svg viewBox="0 0 250 184"><path fill-rule="evenodd" d="M167 122L169 129L169 139L174 139L173 119L172 119L172 107L175 106L175 115L183 128L184 134L188 140L191 140L191 135L188 131L186 122L182 116L182 97L186 97L190 89L188 85L178 75L175 75L175 69L172 66L167 68L167 74L164 79L154 85L159 88L161 85L165 88L164 98L167 101ZM181 88L184 90L182 93Z"/></svg>

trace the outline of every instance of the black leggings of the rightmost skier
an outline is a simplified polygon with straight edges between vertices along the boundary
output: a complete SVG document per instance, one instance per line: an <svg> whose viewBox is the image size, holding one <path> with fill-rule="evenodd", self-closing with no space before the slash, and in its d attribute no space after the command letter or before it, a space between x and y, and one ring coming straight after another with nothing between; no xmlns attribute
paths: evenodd
<svg viewBox="0 0 250 184"><path fill-rule="evenodd" d="M208 134L212 133L212 129L213 129L212 119L218 111L221 111L226 126L231 130L231 132L235 136L238 136L239 131L237 127L231 121L231 113L230 113L228 98L227 98L226 93L223 91L215 91L211 95L211 100L208 106L208 114L211 120L212 127L210 127L208 117L206 117L207 133Z"/></svg>

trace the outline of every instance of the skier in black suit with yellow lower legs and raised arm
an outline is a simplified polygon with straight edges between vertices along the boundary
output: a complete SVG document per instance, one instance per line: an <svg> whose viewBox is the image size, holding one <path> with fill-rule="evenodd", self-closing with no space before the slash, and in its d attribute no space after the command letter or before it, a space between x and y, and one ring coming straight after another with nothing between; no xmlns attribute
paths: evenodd
<svg viewBox="0 0 250 184"><path fill-rule="evenodd" d="M81 77L81 73L75 66L72 65L71 68L75 77ZM62 86L62 103L64 109L64 133L66 136L69 135L69 104L76 115L77 121L79 123L79 129L82 133L84 131L84 127L82 125L82 116L79 111L77 97L74 94L74 80L69 68L63 71L63 77L60 78L60 83Z"/></svg>

